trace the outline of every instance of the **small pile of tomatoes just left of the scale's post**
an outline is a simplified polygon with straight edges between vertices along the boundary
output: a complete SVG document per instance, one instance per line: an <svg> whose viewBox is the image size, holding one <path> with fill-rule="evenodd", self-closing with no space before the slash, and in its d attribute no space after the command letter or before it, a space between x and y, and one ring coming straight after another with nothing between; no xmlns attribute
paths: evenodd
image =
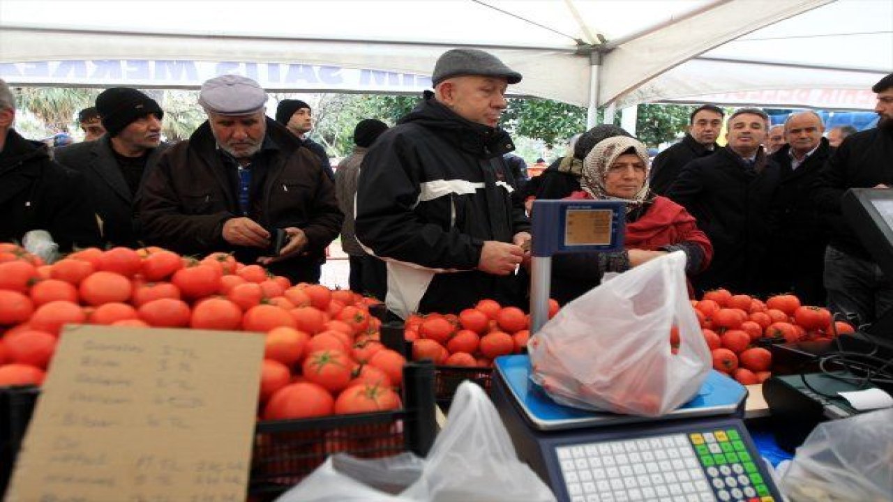
<svg viewBox="0 0 893 502"><path fill-rule="evenodd" d="M551 319L558 302L549 300ZM530 315L516 306L485 298L456 314L412 314L404 336L413 343L413 360L434 364L489 368L498 356L519 354L530 339Z"/></svg>

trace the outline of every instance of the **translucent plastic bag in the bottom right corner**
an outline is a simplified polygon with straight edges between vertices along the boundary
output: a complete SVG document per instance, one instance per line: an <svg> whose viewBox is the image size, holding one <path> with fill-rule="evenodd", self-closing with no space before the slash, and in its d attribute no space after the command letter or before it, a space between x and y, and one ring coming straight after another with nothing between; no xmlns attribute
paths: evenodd
<svg viewBox="0 0 893 502"><path fill-rule="evenodd" d="M792 502L893 500L893 408L818 424L779 488Z"/></svg>

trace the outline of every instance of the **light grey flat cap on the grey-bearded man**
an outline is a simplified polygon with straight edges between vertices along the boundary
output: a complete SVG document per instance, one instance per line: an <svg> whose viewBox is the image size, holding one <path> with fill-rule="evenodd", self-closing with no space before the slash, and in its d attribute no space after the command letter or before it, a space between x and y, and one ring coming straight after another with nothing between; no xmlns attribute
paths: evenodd
<svg viewBox="0 0 893 502"><path fill-rule="evenodd" d="M206 80L198 93L205 112L248 115L263 110L267 93L254 80L241 75L221 75Z"/></svg>

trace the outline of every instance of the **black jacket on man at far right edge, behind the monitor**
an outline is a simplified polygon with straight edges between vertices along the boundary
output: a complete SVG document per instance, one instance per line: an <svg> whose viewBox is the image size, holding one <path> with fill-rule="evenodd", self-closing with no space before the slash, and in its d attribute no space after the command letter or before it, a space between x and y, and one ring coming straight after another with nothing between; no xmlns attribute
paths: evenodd
<svg viewBox="0 0 893 502"><path fill-rule="evenodd" d="M880 183L893 187L893 127L848 136L815 181L813 197L830 227L831 246L872 260L840 213L840 197L848 188L872 188Z"/></svg>

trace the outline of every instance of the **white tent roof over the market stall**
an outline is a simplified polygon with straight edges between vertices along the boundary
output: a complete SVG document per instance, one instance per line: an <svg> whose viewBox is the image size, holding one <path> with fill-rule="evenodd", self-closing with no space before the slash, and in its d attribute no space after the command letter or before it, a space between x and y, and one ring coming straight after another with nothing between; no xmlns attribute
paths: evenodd
<svg viewBox="0 0 893 502"><path fill-rule="evenodd" d="M17 84L194 88L238 71L271 90L409 92L453 46L521 71L517 93L576 105L816 105L816 89L867 92L893 70L893 2L0 0L0 77Z"/></svg>

